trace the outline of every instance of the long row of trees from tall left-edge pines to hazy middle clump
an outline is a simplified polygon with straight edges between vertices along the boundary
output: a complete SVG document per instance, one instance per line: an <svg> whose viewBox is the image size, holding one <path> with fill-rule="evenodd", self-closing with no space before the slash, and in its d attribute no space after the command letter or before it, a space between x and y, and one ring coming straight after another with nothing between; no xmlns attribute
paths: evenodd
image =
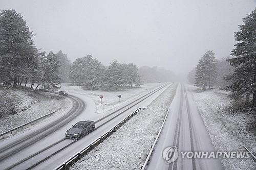
<svg viewBox="0 0 256 170"><path fill-rule="evenodd" d="M57 89L61 82L84 86L84 89L140 85L138 67L116 60L104 66L92 55L71 63L62 51L41 52L33 41L23 16L15 10L0 12L0 82L5 86L30 83L35 91L39 85ZM35 85L35 86L34 86Z"/></svg>

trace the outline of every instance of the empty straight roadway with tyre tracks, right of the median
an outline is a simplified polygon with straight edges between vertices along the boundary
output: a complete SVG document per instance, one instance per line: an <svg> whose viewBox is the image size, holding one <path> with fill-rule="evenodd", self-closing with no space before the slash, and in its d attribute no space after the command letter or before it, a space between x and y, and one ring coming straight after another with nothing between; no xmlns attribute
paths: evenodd
<svg viewBox="0 0 256 170"><path fill-rule="evenodd" d="M176 146L178 159L165 163L165 148ZM191 92L179 84L162 133L146 169L223 169L220 159L182 158L180 151L215 151Z"/></svg>

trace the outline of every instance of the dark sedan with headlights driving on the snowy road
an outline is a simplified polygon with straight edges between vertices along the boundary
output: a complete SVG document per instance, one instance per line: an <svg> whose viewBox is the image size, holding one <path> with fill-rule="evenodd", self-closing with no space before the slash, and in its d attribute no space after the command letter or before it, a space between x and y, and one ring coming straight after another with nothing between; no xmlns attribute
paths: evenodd
<svg viewBox="0 0 256 170"><path fill-rule="evenodd" d="M95 122L91 120L80 121L67 130L66 137L72 139L80 139L84 135L89 134L95 129Z"/></svg>

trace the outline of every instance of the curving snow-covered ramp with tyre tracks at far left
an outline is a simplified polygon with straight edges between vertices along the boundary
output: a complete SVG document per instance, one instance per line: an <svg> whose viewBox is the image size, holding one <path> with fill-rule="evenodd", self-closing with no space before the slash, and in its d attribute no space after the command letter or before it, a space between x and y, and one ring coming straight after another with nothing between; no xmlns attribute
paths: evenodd
<svg viewBox="0 0 256 170"><path fill-rule="evenodd" d="M38 124L33 129L1 142L0 169L6 169L10 165L54 143L59 137L56 135L57 131L73 122L72 120L79 117L86 107L84 102L78 98L70 96L70 99L72 99L72 107L54 117L50 122ZM49 136L51 136L50 140L45 140Z"/></svg>

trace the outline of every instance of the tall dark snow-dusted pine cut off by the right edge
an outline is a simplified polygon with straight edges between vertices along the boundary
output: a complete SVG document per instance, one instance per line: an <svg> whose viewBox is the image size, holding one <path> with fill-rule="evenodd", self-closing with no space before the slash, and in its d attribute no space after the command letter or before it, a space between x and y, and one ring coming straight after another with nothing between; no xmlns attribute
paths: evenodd
<svg viewBox="0 0 256 170"><path fill-rule="evenodd" d="M250 99L256 105L256 8L246 18L244 25L239 26L239 31L234 34L238 43L232 50L230 65L234 73L227 77L231 85L227 89L231 92L231 99L238 101Z"/></svg>

